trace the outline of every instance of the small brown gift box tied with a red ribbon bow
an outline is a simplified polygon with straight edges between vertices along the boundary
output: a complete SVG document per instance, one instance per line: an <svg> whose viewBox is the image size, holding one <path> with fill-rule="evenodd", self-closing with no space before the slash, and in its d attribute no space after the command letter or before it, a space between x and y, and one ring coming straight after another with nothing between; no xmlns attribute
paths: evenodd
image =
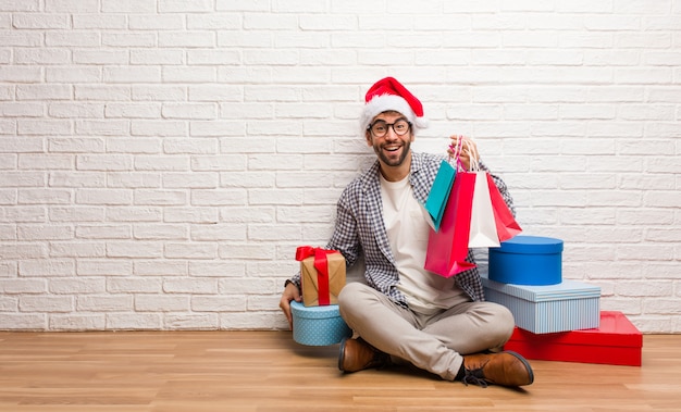
<svg viewBox="0 0 681 412"><path fill-rule="evenodd" d="M306 307L338 303L345 286L345 258L336 250L301 246L296 250L300 261L300 288Z"/></svg>

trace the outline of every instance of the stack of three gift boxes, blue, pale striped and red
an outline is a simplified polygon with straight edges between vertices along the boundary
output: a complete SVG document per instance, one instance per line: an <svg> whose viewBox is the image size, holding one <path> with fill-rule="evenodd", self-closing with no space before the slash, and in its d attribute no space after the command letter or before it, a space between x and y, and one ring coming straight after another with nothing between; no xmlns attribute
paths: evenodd
<svg viewBox="0 0 681 412"><path fill-rule="evenodd" d="M621 312L600 311L600 288L562 279L562 241L516 236L490 248L488 301L507 307L516 328L505 350L528 359L641 365L643 337Z"/></svg>

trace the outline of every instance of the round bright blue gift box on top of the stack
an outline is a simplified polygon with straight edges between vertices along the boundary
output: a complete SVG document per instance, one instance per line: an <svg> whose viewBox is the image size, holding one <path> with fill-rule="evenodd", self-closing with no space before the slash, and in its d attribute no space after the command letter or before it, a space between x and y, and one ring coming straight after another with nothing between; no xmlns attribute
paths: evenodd
<svg viewBox="0 0 681 412"><path fill-rule="evenodd" d="M562 240L516 236L490 248L490 279L515 285L558 285L562 280Z"/></svg>

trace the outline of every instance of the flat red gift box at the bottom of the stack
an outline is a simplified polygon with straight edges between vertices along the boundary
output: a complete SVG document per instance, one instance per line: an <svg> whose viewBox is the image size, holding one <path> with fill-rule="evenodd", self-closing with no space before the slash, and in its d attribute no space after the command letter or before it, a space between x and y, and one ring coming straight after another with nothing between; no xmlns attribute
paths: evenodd
<svg viewBox="0 0 681 412"><path fill-rule="evenodd" d="M641 366L643 335L621 312L600 312L594 329L533 334L516 327L504 350L528 359Z"/></svg>

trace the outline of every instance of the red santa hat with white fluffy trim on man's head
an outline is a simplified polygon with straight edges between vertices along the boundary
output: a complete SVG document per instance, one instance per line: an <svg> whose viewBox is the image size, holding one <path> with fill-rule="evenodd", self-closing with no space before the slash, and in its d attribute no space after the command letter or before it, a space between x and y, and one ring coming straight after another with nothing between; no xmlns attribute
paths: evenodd
<svg viewBox="0 0 681 412"><path fill-rule="evenodd" d="M373 117L387 111L401 113L417 129L429 125L428 118L423 116L421 101L393 77L382 78L371 86L364 100L360 116L362 132L369 127Z"/></svg>

